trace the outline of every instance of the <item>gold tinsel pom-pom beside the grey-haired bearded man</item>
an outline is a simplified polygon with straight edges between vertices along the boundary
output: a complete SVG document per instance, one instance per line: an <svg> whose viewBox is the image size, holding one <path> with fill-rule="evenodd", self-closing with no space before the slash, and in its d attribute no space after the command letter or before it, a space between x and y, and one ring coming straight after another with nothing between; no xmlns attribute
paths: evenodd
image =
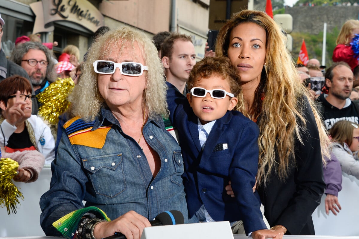
<svg viewBox="0 0 359 239"><path fill-rule="evenodd" d="M58 78L36 97L41 103L39 115L56 125L59 122L59 116L63 114L70 106L67 96L74 89L75 83L71 78Z"/></svg>

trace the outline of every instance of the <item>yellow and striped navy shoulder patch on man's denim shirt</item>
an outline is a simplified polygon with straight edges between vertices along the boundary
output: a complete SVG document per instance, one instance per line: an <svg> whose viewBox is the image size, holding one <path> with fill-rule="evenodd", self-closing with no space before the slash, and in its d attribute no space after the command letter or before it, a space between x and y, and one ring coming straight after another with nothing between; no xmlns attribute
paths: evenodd
<svg viewBox="0 0 359 239"><path fill-rule="evenodd" d="M86 122L75 117L64 124L71 144L101 149L106 142L107 133L112 125L100 126L92 131L95 121Z"/></svg>

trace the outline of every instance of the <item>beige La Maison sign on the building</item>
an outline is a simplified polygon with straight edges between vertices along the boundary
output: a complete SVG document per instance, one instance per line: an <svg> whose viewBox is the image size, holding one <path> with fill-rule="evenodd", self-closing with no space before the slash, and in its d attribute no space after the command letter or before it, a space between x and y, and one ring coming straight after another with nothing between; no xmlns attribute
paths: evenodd
<svg viewBox="0 0 359 239"><path fill-rule="evenodd" d="M33 33L53 30L53 22L77 23L92 32L104 25L100 11L87 0L42 0L30 4L36 15Z"/></svg>

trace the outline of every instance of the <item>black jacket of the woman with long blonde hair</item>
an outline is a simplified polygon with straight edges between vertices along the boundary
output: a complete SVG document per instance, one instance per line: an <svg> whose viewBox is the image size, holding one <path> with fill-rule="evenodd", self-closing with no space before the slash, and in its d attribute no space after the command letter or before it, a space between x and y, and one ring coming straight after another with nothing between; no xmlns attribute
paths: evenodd
<svg viewBox="0 0 359 239"><path fill-rule="evenodd" d="M303 99L306 127L300 131L303 143L295 139L295 166L290 166L285 181L274 172L258 192L270 226L283 225L286 234L314 235L312 213L321 202L325 189L319 132L308 100Z"/></svg>

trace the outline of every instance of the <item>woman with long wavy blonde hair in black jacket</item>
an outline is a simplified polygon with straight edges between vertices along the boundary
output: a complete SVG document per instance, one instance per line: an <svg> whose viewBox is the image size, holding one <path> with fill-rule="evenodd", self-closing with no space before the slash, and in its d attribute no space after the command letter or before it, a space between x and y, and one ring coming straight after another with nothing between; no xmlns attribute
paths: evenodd
<svg viewBox="0 0 359 239"><path fill-rule="evenodd" d="M264 12L243 10L220 29L216 55L237 67L243 99L237 110L260 128L257 184L269 224L286 234L314 234L311 215L325 188L329 142L286 37Z"/></svg>

